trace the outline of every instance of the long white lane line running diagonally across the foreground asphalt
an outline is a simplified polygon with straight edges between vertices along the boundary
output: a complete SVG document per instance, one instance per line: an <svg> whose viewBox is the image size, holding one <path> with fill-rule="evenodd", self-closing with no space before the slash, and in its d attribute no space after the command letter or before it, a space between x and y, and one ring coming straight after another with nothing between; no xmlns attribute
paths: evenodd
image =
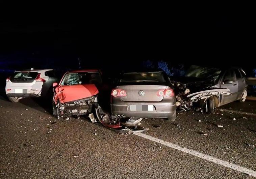
<svg viewBox="0 0 256 179"><path fill-rule="evenodd" d="M224 160L220 160L220 159L217 159L217 158L214 158L212 156L209 156L209 155L205 155L205 154L202 154L202 153L199 153L197 151L194 151L194 150L189 150L187 148L183 148L183 147L180 147L178 145L175 145L175 144L172 144L170 142L166 142L166 141L163 141L163 140L160 140L160 139L157 139L157 138L154 138L152 136L148 136L144 133L134 133L134 135L137 135L139 137L143 137L145 139L148 139L148 140L151 140L153 142L157 142L159 144L162 144L162 145L165 145L165 146L168 146L168 147L171 147L171 148L174 148L174 149L177 149L177 150L180 150L182 152L186 152L190 155L194 155L194 156L197 156L199 158L203 158L205 160L208 160L208 161L211 161L213 163L217 163L219 165L222 165L222 166L225 166L225 167L228 167L230 169L233 169L233 170L236 170L238 172L242 172L242 173L246 173L248 175L251 175L251 176L254 176L256 177L256 171L253 171L253 170L250 170L250 169L247 169L247 168L244 168L244 167L240 167L238 165L235 165L233 163L229 163L227 161L224 161Z"/></svg>

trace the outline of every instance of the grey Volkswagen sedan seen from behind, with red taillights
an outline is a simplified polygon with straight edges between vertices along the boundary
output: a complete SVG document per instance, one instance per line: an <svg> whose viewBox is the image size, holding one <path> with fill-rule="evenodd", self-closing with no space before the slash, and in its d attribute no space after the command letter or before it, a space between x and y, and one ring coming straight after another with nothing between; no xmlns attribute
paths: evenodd
<svg viewBox="0 0 256 179"><path fill-rule="evenodd" d="M125 72L111 92L111 111L116 116L174 121L175 103L170 78L163 71Z"/></svg>

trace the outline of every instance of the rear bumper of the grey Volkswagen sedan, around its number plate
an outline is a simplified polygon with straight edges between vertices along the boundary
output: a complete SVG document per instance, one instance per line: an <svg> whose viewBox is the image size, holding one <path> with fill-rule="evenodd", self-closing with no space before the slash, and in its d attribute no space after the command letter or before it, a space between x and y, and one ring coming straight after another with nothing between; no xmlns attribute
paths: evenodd
<svg viewBox="0 0 256 179"><path fill-rule="evenodd" d="M153 105L154 111L130 111L130 105ZM157 102L122 102L111 104L113 115L124 115L136 118L171 118L176 115L176 105Z"/></svg>

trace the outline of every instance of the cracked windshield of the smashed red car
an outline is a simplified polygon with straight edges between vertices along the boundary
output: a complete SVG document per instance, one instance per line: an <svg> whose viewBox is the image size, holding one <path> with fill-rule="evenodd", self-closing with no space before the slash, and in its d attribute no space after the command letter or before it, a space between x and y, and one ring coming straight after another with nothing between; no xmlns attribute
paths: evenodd
<svg viewBox="0 0 256 179"><path fill-rule="evenodd" d="M60 85L84 85L101 84L102 79L99 72L67 73Z"/></svg>

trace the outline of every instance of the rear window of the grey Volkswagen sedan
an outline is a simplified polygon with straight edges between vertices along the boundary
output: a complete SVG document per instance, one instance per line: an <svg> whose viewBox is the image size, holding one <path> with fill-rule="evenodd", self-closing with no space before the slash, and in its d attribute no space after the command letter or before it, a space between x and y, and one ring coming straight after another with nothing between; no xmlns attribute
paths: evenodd
<svg viewBox="0 0 256 179"><path fill-rule="evenodd" d="M132 73L124 73L120 83L129 83L129 82L158 82L164 83L165 79L163 73L161 72L132 72Z"/></svg>

